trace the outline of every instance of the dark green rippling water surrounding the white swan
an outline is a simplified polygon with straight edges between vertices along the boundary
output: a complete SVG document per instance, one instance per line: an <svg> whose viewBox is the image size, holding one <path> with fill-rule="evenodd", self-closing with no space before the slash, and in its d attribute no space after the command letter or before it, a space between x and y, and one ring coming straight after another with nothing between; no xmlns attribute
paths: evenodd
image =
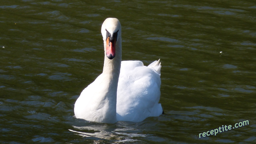
<svg viewBox="0 0 256 144"><path fill-rule="evenodd" d="M22 0L0 9L0 143L256 142L254 1ZM116 124L74 117L102 72L108 17L122 24L123 60L161 59L165 114Z"/></svg>

